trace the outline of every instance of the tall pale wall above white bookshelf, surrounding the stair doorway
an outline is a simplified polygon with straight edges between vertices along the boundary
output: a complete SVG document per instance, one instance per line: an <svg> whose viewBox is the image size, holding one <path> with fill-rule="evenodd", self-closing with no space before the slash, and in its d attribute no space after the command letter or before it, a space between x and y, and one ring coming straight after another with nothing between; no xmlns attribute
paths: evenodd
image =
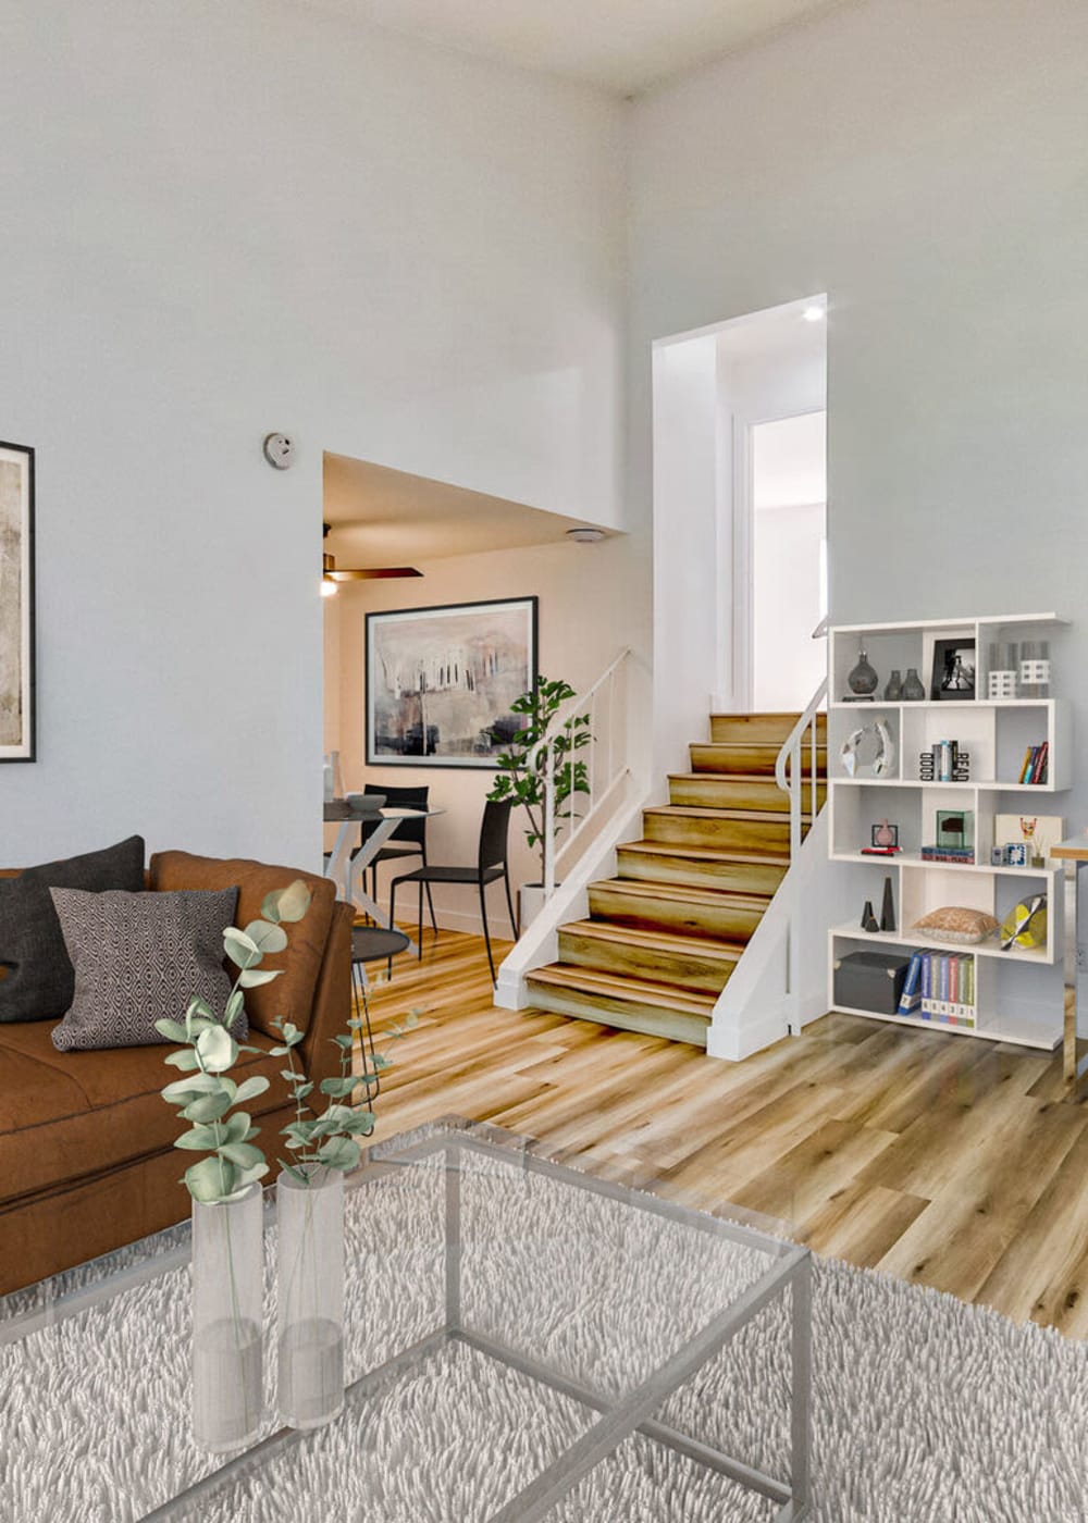
<svg viewBox="0 0 1088 1523"><path fill-rule="evenodd" d="M1086 58L1082 0L870 0L637 102L631 171L632 503L651 341L826 291L832 618L1065 611L1082 723Z"/></svg>

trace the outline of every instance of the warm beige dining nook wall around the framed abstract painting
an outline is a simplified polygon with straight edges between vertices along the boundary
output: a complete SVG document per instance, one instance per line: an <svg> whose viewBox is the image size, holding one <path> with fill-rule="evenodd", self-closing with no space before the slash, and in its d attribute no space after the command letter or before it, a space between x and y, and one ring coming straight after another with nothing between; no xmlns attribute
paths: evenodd
<svg viewBox="0 0 1088 1523"><path fill-rule="evenodd" d="M645 595L645 562L628 536L596 545L550 544L488 554L454 556L421 565L421 582L355 582L341 586L326 600L329 637L326 649L338 649L338 664L326 667L326 713L338 713L338 731L326 726L329 746L341 752L344 786L389 783L411 787L430 786L430 801L446 812L430 821L427 850L431 862L471 865L480 836L480 815L488 790L495 781L491 769L469 768L378 768L366 765L366 615L393 608L428 608L494 597L539 599L539 670L549 678L564 678L578 691L588 688L616 655L629 646L635 655L631 673L632 698L642 699L638 670L649 664L649 602ZM603 742L603 736L599 736ZM648 736L642 736L643 745ZM643 754L632 754L638 765ZM329 845L332 839L329 838ZM408 862L402 871L413 865ZM382 867L381 900L393 868ZM510 821L510 876L518 883L539 882L539 857L524 842L520 812ZM402 900L414 914L414 891ZM489 889L500 935L507 935L501 889ZM398 902L398 914L399 914ZM478 929L474 888L436 888L434 908L439 924L454 931Z"/></svg>

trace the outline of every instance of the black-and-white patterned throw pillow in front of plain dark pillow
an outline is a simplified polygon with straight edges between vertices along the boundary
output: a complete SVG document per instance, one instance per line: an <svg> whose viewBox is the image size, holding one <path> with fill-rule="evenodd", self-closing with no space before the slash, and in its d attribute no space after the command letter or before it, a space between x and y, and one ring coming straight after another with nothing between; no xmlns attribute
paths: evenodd
<svg viewBox="0 0 1088 1523"><path fill-rule="evenodd" d="M236 888L50 894L76 972L75 999L53 1030L59 1052L162 1042L155 1020L180 1020L194 995L222 1019L232 984L222 932L235 918ZM244 1013L232 1036L247 1036Z"/></svg>

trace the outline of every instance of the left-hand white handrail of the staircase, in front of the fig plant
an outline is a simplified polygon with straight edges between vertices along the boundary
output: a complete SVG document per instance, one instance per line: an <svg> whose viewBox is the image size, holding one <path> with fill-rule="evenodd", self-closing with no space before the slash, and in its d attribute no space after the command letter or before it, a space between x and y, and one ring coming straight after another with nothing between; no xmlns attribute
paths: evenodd
<svg viewBox="0 0 1088 1523"><path fill-rule="evenodd" d="M546 899L550 899L555 892L556 860L570 850L574 839L594 818L600 815L600 810L605 807L608 800L613 798L616 789L629 772L626 763L625 716L620 713L620 723L617 723L616 714L617 702L622 698L620 678L622 673L625 673L625 664L629 656L631 650L625 646L623 650L620 650L620 653L610 661L591 687L588 687L584 693L576 693L573 698L568 698L552 717L552 733L546 736L544 740L539 740L526 758L527 772L544 778L542 830ZM576 755L571 748L567 752L565 768L570 769L568 781L573 781L574 766L578 762L585 762L588 787L585 790L579 789L579 792L585 792L588 807L576 815L573 810L573 790L567 795L570 809L565 816L565 839L558 842L556 833L562 829L564 821L556 819L555 748L562 739L564 731L582 714L587 714L590 720L587 728L587 755ZM602 726L605 726L603 736L599 734ZM623 742L622 748L617 746L617 739ZM602 749L599 748L603 749L603 766ZM620 749L619 763L617 749Z"/></svg>

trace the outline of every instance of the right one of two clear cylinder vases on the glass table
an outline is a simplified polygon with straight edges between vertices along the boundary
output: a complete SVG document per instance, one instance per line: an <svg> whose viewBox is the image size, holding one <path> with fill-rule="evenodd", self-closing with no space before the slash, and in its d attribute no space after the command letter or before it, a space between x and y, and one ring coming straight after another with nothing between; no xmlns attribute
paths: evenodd
<svg viewBox="0 0 1088 1523"><path fill-rule="evenodd" d="M344 1176L318 1168L276 1185L279 1413L331 1422L344 1404Z"/></svg>

